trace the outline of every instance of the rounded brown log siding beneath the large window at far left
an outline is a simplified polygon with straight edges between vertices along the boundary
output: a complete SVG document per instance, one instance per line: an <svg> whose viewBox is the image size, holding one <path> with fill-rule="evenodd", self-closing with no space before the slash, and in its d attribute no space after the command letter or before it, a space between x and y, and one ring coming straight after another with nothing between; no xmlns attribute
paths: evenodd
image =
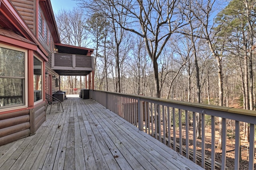
<svg viewBox="0 0 256 170"><path fill-rule="evenodd" d="M0 146L30 135L28 109L0 115Z"/></svg>

